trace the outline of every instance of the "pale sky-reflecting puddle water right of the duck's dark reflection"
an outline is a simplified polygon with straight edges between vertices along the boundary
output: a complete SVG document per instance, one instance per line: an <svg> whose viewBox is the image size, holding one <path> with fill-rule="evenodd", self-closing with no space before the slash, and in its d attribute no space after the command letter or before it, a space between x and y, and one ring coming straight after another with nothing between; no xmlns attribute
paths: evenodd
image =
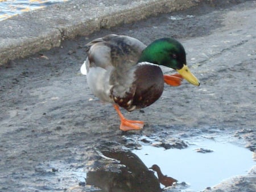
<svg viewBox="0 0 256 192"><path fill-rule="evenodd" d="M200 148L210 149L212 152L197 152L196 149ZM188 183L188 191L200 191L217 185L226 178L246 174L255 165L252 152L248 149L213 140L198 141L185 149L164 150L152 145L143 145L142 149L133 153L141 158L148 168L157 164L163 174L179 182Z"/></svg>

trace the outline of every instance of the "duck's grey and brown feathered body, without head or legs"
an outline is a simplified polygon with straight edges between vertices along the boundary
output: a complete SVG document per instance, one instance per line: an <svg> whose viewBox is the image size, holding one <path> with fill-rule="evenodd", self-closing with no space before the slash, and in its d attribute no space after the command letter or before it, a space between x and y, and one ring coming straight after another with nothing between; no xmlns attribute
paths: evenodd
<svg viewBox="0 0 256 192"><path fill-rule="evenodd" d="M87 81L102 101L132 111L154 103L163 92L158 65L139 62L146 45L129 36L108 35L86 44Z"/></svg>

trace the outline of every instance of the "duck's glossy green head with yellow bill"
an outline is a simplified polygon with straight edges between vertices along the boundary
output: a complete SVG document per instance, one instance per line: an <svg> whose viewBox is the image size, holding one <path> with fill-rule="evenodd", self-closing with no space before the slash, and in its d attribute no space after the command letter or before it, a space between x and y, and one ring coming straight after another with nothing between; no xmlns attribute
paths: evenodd
<svg viewBox="0 0 256 192"><path fill-rule="evenodd" d="M200 85L187 66L184 47L175 39L162 38L153 41L143 50L139 62L143 61L175 69L191 84Z"/></svg>

